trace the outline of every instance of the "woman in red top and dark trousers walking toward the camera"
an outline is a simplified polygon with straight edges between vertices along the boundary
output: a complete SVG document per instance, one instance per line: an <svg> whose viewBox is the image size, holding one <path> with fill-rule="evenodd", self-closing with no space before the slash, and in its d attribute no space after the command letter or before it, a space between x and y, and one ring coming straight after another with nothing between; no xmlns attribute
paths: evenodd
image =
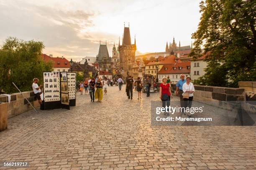
<svg viewBox="0 0 256 170"><path fill-rule="evenodd" d="M162 83L160 84L160 90L159 90L159 97L162 100L162 107L169 107L170 106L170 100L172 97L172 92L170 88L170 84L167 83L167 78L163 77ZM166 109L164 112L164 115L169 115L168 110Z"/></svg>

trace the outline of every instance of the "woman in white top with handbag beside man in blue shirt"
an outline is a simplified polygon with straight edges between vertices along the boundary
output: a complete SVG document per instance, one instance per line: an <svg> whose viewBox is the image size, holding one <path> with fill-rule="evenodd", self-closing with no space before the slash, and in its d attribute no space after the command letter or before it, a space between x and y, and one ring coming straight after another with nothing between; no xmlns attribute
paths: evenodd
<svg viewBox="0 0 256 170"><path fill-rule="evenodd" d="M183 100L184 100L184 109L186 110L186 108L188 107L189 110L192 106L192 101L193 101L193 92L195 92L195 87L193 85L191 81L191 78L188 76L186 77L186 83L183 84L182 86L182 96L183 96ZM188 117L191 117L190 112L187 113Z"/></svg>

